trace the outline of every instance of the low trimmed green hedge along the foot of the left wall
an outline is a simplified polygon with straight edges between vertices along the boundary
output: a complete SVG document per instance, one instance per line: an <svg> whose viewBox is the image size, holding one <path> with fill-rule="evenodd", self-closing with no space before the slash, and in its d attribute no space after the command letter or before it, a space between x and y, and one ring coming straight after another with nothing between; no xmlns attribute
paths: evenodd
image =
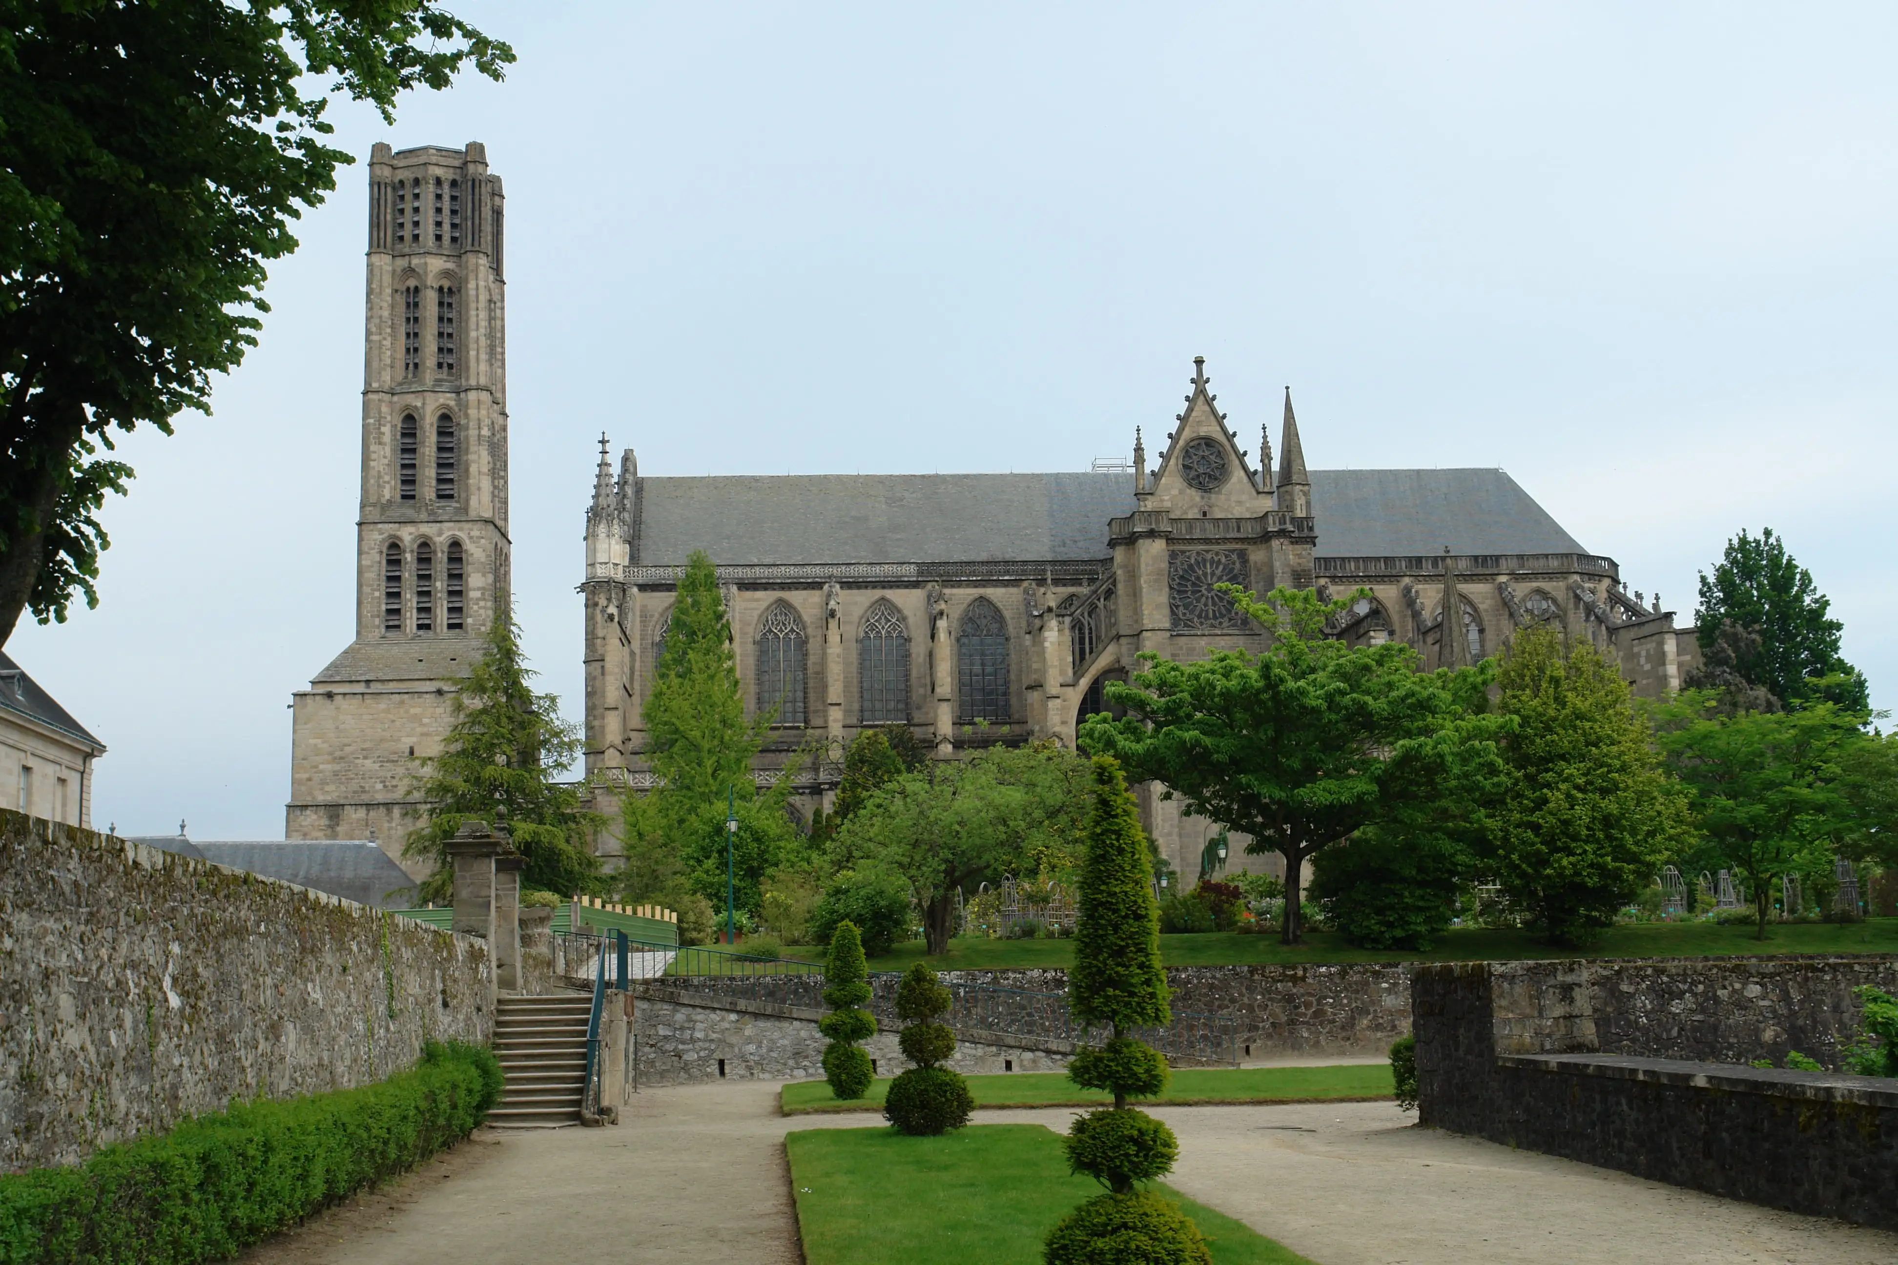
<svg viewBox="0 0 1898 1265"><path fill-rule="evenodd" d="M501 1098L493 1053L429 1041L410 1072L232 1104L74 1168L0 1176L4 1265L197 1265L465 1138Z"/></svg>

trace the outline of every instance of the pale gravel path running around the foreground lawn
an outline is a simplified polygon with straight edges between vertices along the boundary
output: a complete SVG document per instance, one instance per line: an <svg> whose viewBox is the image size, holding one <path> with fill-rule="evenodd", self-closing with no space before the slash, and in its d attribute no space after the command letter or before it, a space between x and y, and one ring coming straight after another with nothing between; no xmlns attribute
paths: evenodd
<svg viewBox="0 0 1898 1265"><path fill-rule="evenodd" d="M797 1265L774 1083L647 1091L619 1127L482 1130L414 1176L260 1244L251 1265ZM1898 1235L1771 1212L1410 1125L1389 1104L1158 1108L1169 1182L1319 1265L1890 1265ZM1067 1109L981 1111L1065 1130ZM865 1263L867 1265L867 1263Z"/></svg>

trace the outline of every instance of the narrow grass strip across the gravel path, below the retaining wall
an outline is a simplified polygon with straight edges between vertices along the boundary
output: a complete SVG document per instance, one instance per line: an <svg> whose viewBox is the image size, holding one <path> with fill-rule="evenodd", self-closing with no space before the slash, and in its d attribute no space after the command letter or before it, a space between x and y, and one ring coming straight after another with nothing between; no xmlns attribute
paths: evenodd
<svg viewBox="0 0 1898 1265"><path fill-rule="evenodd" d="M968 1089L977 1108L1091 1108L1110 1094L1080 1089L1065 1072L1015 1072L972 1075ZM831 1098L824 1081L786 1085L778 1102L786 1115L809 1111L881 1111L890 1081L877 1079L854 1102ZM1330 1068L1181 1068L1167 1079L1167 1092L1141 1102L1363 1102L1391 1096L1391 1066L1346 1064Z"/></svg>

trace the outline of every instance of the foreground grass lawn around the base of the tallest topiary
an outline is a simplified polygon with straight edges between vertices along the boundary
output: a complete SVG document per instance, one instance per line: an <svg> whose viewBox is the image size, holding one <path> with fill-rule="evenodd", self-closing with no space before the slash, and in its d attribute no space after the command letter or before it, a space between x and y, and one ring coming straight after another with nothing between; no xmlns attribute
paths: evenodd
<svg viewBox="0 0 1898 1265"><path fill-rule="evenodd" d="M784 1138L809 1265L1038 1265L1042 1238L1101 1193L1069 1174L1040 1125L972 1125L941 1138L810 1128ZM1217 1265L1312 1265L1239 1221L1179 1201Z"/></svg>

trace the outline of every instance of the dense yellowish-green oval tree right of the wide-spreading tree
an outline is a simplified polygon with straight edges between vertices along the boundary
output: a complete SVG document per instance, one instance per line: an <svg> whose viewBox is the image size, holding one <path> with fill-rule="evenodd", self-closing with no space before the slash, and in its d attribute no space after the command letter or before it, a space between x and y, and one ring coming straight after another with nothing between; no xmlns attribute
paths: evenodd
<svg viewBox="0 0 1898 1265"><path fill-rule="evenodd" d="M1492 863L1556 944L1583 944L1687 838L1687 817L1621 671L1589 641L1524 628L1503 654L1498 711L1507 781Z"/></svg>

